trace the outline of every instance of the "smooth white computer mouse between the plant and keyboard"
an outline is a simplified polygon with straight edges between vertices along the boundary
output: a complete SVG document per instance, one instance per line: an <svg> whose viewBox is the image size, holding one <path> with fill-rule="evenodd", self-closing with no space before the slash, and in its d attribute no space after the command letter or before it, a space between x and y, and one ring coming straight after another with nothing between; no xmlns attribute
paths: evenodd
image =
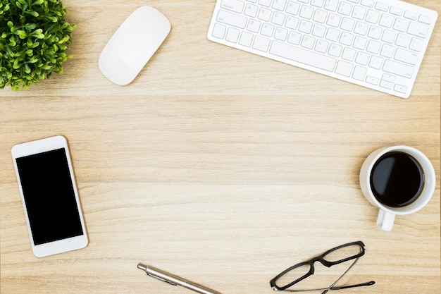
<svg viewBox="0 0 441 294"><path fill-rule="evenodd" d="M101 51L101 73L117 85L128 85L161 46L170 27L170 21L155 8L137 8Z"/></svg>

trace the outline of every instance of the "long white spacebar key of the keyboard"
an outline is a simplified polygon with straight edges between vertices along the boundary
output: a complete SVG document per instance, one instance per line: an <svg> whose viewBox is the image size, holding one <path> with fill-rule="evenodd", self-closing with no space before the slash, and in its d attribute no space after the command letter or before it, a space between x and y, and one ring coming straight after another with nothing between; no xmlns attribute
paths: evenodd
<svg viewBox="0 0 441 294"><path fill-rule="evenodd" d="M334 71L336 63L335 59L332 57L317 54L313 51L308 51L277 41L274 41L271 45L270 53L275 56L306 64L308 66L320 68L324 71Z"/></svg>

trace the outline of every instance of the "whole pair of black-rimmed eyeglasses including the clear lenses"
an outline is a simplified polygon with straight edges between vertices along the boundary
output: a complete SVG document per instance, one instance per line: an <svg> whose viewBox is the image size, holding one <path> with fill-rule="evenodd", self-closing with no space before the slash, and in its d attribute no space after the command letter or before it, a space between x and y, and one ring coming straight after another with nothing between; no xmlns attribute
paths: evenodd
<svg viewBox="0 0 441 294"><path fill-rule="evenodd" d="M289 292L301 292L301 291L321 290L323 291L322 294L328 293L329 290L341 290L341 289L354 288L360 286L371 286L375 283L374 281L359 283L351 286L334 287L335 284L337 284L338 281L340 281L340 279L349 271L349 269L354 267L354 264L363 255L364 255L364 244L361 241L340 245L338 247L326 251L325 253L323 253L323 255L320 255L318 257L313 257L311 260L307 262L301 262L299 264L290 267L289 269L285 269L285 271L282 271L280 274L275 276L275 278L273 278L270 281L270 285L275 291L282 290ZM288 289L294 286L294 284L299 283L299 281L302 281L305 278L313 275L315 262L321 262L321 264L323 264L325 267L332 267L335 264L341 264L342 262L347 262L352 259L354 259L354 262L352 262L352 264L349 266L349 268L346 271L344 271L344 273L340 276L340 278L337 278L337 281L335 281L328 288L319 288L319 289L311 289L311 290Z"/></svg>

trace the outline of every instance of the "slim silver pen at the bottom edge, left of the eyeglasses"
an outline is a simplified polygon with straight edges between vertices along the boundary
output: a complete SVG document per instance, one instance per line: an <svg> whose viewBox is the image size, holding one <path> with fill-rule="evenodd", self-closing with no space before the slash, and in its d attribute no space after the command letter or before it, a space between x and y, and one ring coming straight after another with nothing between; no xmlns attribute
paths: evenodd
<svg viewBox="0 0 441 294"><path fill-rule="evenodd" d="M159 281L163 281L169 283L173 286L182 286L184 288L194 290L194 292L201 294L221 294L215 290L211 290L210 288L206 288L197 283L193 283L190 281L185 281L185 279L180 278L179 276L175 276L173 274L168 274L165 271L161 271L161 269L156 269L156 267L151 267L149 265L138 264L138 269L142 269L147 273L147 276L151 276L152 278L156 278Z"/></svg>

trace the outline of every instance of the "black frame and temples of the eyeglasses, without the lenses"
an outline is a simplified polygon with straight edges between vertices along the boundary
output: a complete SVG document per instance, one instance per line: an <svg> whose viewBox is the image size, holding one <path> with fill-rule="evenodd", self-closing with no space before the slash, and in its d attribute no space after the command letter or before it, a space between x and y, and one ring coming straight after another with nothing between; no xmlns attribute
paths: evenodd
<svg viewBox="0 0 441 294"><path fill-rule="evenodd" d="M359 245L360 252L358 254L353 255L351 257L346 257L344 259L337 260L335 262L329 262L328 260L323 258L326 255L330 254L331 252L334 252L335 250L339 250L339 249L341 249L343 247L349 247L349 246L352 246L352 245ZM315 262L320 262L325 267L332 267L333 265L341 264L343 262L347 262L349 260L355 259L354 262L351 264L351 266L349 266L349 268L346 271L344 271L344 273L342 274L342 276L344 276L344 274L346 274L347 271L349 271L349 269L351 269L354 266L356 261L360 257L362 257L364 255L364 253L365 253L364 243L361 242L361 241L356 241L356 242L352 242L352 243L346 243L346 244L334 247L334 248L324 252L322 255L319 255L317 257L313 257L313 258L309 259L309 261L300 262L299 264L294 264L292 267L289 267L288 269L285 269L285 271L282 271L280 274L275 276L275 278L271 279L271 281L270 281L271 288L273 288L273 290L283 291L283 290L286 290L287 288L290 288L290 287L294 286L294 284L299 283L299 281L303 281L305 278L308 278L309 276L312 276L314 274L314 263ZM279 286L277 286L275 284L275 281L277 281L281 276L287 274L287 272L292 271L293 269L296 269L297 267L302 267L302 266L307 265L307 264L309 264L309 271L306 274L304 274L304 276L301 276L300 278L297 278L297 280L292 281L291 283L288 283L287 285L282 286L282 287L279 287ZM342 278L342 276L340 276L340 278ZM352 286L342 286L342 287L333 288L335 283L340 281L340 278L338 278L337 281L335 281L329 288L314 289L314 290L325 290L324 293L326 293L326 292L328 292L328 290L340 290L340 289L344 289L344 288L353 288L353 287L358 287L358 286L371 286L371 285L373 285L375 283L374 281L370 281L370 282L367 282L367 283L361 283L361 284L356 284L356 285L352 285ZM303 290L299 290L299 291L303 291Z"/></svg>

